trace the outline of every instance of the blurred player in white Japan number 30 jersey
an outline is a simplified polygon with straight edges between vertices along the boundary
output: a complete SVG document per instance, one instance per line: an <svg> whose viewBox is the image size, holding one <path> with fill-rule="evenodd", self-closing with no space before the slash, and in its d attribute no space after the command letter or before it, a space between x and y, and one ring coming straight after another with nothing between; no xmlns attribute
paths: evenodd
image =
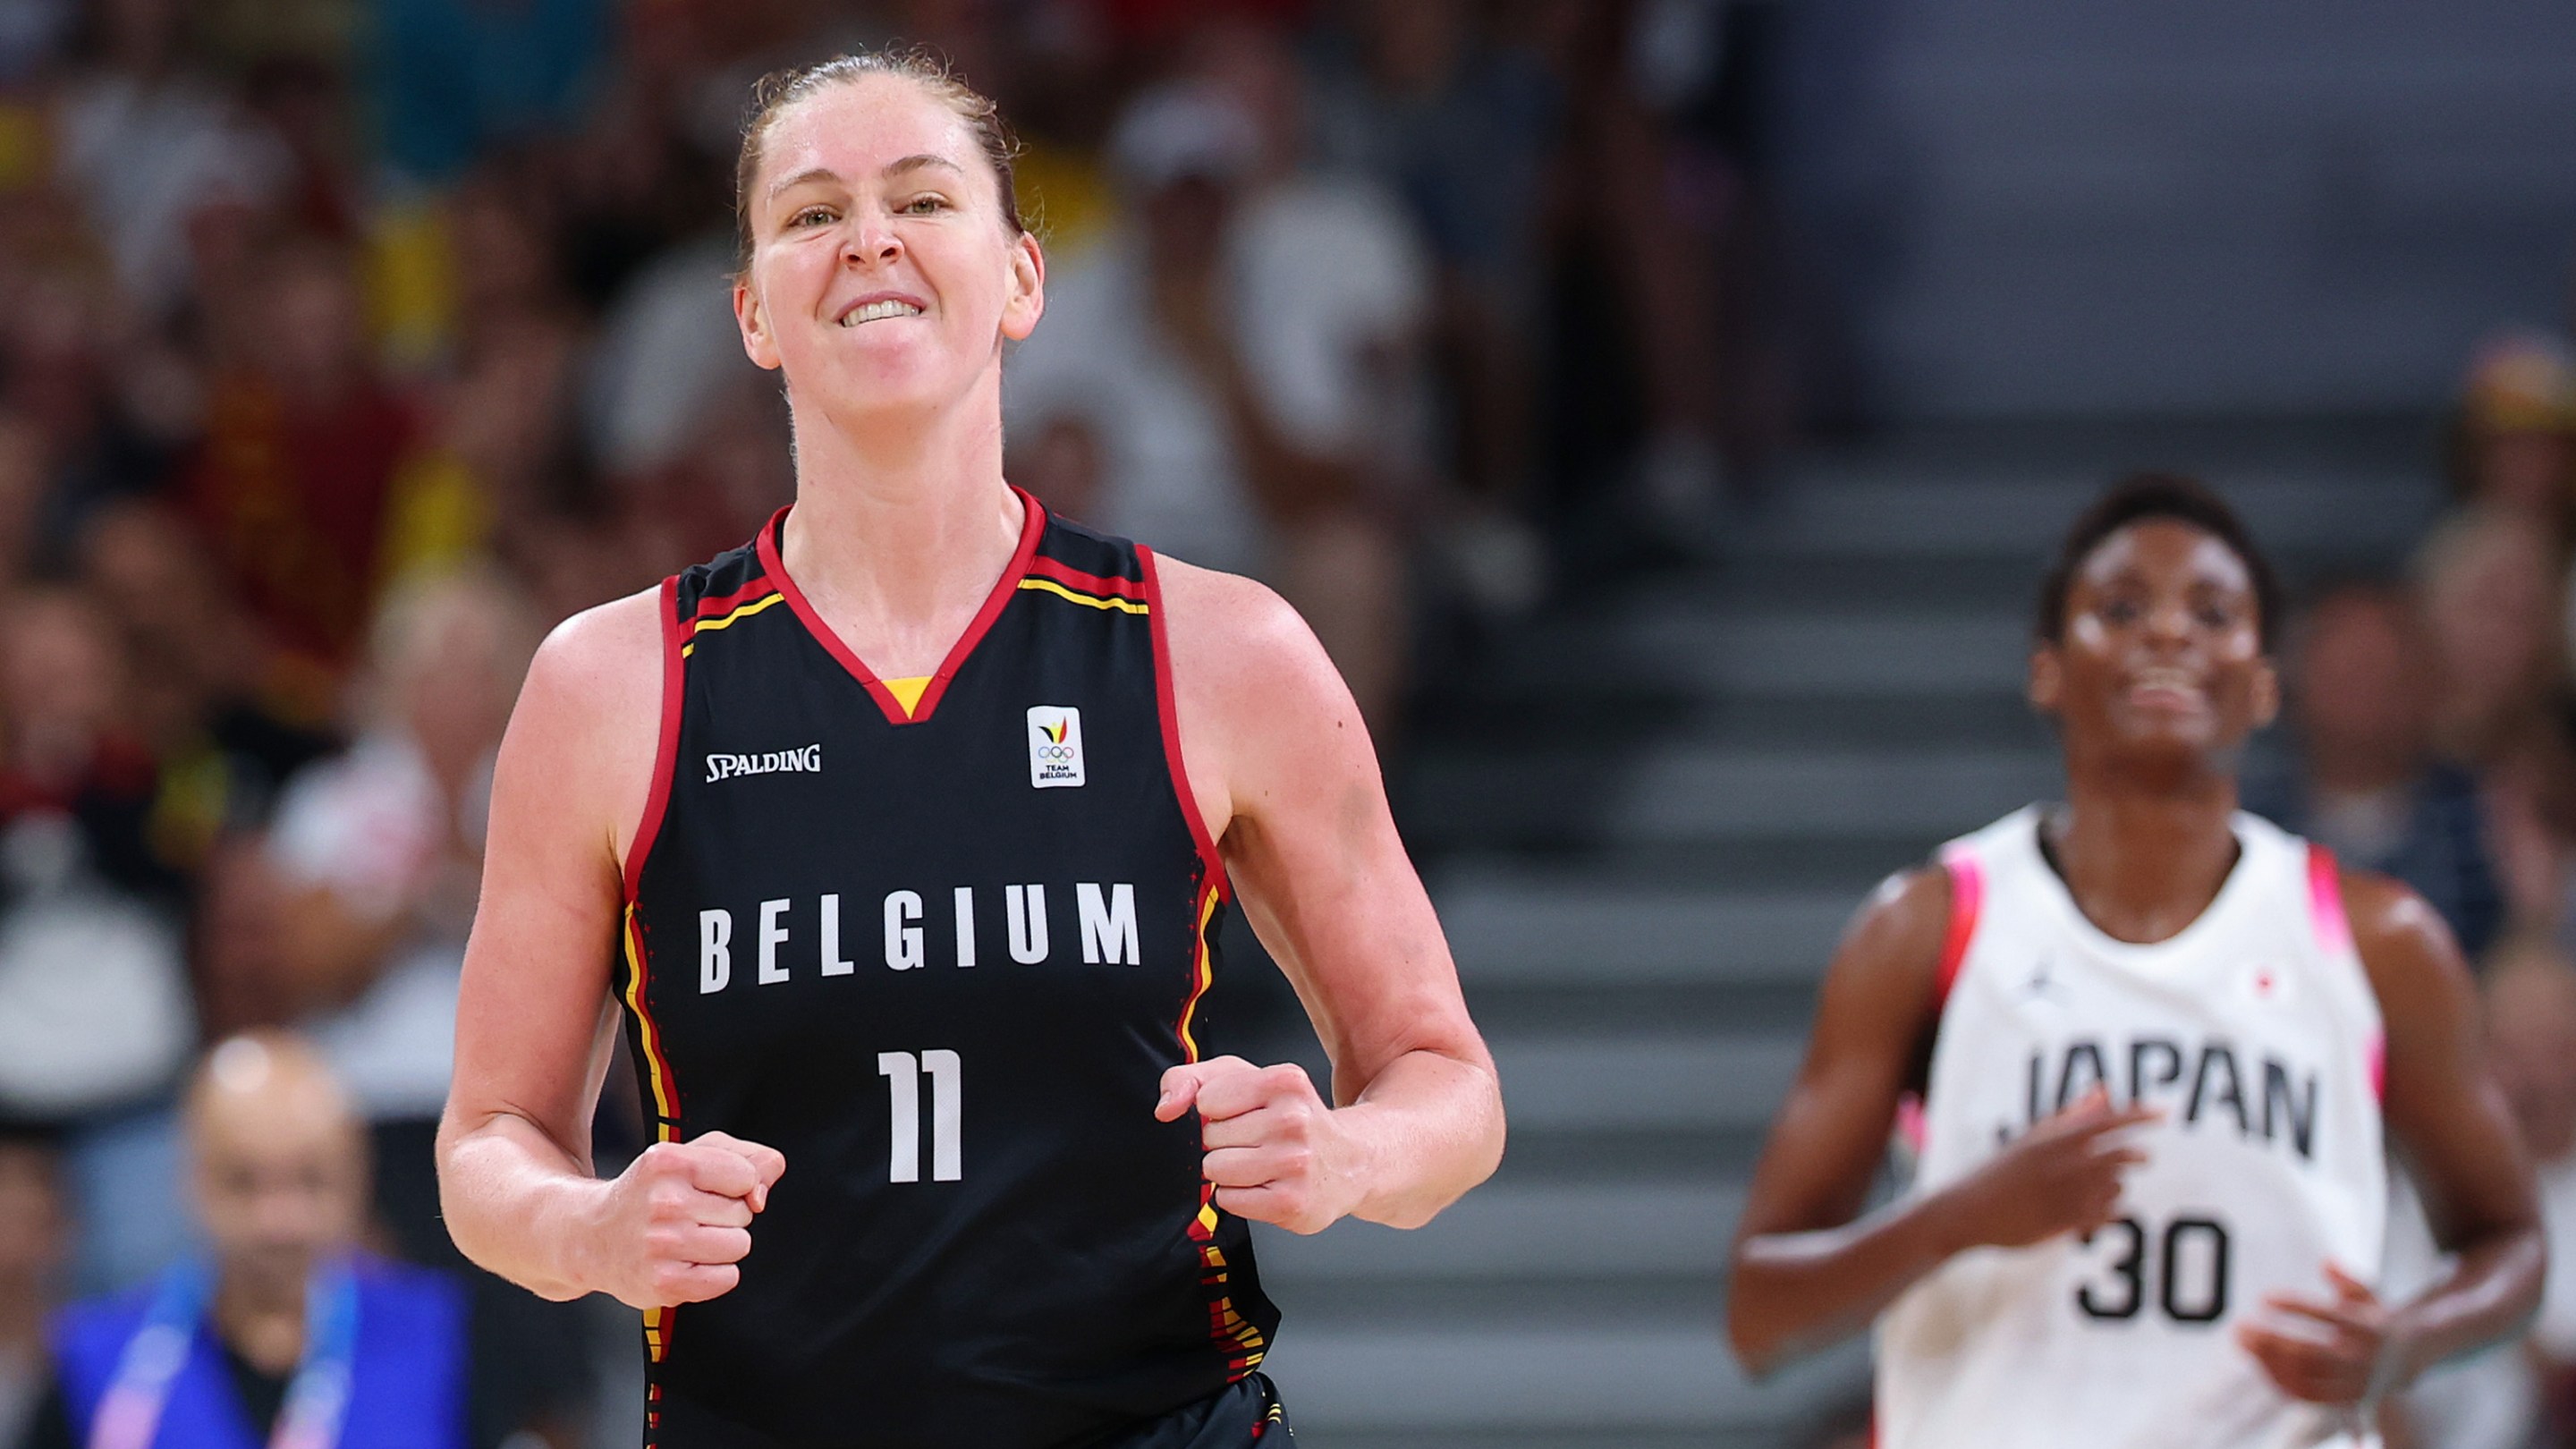
<svg viewBox="0 0 2576 1449"><path fill-rule="evenodd" d="M1728 1333L1765 1372L1875 1318L1883 1449L2375 1444L2380 1395L2540 1299L2450 931L2236 810L2277 619L2215 495L2105 495L2030 657L2066 802L1899 874L1834 957ZM1899 1119L1914 1181L1862 1217ZM2383 1140L2452 1253L2406 1302Z"/></svg>

